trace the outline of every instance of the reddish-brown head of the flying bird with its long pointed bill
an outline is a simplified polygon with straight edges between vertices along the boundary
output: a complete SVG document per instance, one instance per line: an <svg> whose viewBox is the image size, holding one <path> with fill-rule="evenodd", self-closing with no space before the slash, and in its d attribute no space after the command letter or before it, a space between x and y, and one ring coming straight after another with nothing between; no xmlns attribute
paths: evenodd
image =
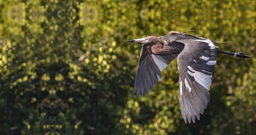
<svg viewBox="0 0 256 135"><path fill-rule="evenodd" d="M163 42L160 38L155 36L148 36L140 39L133 39L133 40L127 40L125 42L138 42L138 43L144 43L144 44L155 44L157 42Z"/></svg>

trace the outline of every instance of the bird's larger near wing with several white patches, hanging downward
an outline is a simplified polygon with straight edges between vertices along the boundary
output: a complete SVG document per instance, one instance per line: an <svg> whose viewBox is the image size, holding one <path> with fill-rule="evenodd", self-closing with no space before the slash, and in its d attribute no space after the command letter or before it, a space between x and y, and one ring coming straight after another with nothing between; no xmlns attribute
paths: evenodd
<svg viewBox="0 0 256 135"><path fill-rule="evenodd" d="M180 110L184 121L190 124L191 119L194 123L195 118L200 120L210 100L208 91L216 64L216 49L211 40L204 38L186 37L177 42L185 44L177 57Z"/></svg>

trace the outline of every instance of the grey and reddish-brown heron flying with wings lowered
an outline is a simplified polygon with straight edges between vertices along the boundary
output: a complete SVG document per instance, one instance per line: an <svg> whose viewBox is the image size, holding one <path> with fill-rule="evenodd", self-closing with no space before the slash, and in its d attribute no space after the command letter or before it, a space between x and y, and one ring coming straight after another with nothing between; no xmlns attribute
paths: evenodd
<svg viewBox="0 0 256 135"><path fill-rule="evenodd" d="M215 41L180 32L165 36L148 36L126 42L143 43L134 83L133 94L143 96L156 86L161 71L177 57L180 73L180 110L185 123L200 120L210 101L209 89L217 53L249 57L244 53L216 49Z"/></svg>

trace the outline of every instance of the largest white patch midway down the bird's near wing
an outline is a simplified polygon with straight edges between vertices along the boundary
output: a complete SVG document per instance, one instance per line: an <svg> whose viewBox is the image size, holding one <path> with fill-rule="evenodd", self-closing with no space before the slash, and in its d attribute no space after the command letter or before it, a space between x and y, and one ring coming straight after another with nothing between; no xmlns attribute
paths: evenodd
<svg viewBox="0 0 256 135"><path fill-rule="evenodd" d="M195 72L192 73L188 70L188 73L190 76L193 76L195 78L195 81L197 81L201 86L204 88L210 90L210 85L212 84L212 75L205 75L202 72L195 71L191 66L187 66L191 71Z"/></svg>

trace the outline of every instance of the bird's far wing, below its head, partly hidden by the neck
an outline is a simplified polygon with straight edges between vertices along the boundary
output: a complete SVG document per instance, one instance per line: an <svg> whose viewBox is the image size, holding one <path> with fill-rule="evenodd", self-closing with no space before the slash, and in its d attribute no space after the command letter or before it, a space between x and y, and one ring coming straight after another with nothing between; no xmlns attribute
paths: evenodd
<svg viewBox="0 0 256 135"><path fill-rule="evenodd" d="M161 71L177 57L175 55L154 55L148 52L147 46L143 44L140 52L140 60L134 83L133 94L143 96L157 84L161 78Z"/></svg>

